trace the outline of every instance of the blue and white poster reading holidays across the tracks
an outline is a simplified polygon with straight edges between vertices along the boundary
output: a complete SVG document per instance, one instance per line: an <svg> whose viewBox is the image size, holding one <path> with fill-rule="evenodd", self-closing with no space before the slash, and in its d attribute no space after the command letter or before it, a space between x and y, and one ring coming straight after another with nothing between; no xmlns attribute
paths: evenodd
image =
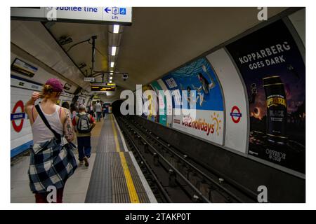
<svg viewBox="0 0 316 224"><path fill-rule="evenodd" d="M211 65L205 58L197 59L162 78L173 91L173 128L206 139L216 144L223 144L223 96ZM195 118L180 113L182 90L195 90L190 99L195 103ZM190 108L190 102L187 101Z"/></svg>

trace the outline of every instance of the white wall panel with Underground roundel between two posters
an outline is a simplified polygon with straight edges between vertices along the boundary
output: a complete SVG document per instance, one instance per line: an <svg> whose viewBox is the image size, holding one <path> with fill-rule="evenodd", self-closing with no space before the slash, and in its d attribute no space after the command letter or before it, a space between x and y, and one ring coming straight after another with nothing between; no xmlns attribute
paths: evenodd
<svg viewBox="0 0 316 224"><path fill-rule="evenodd" d="M246 153L248 116L242 80L223 48L206 58L211 62L223 88L226 116L225 147ZM238 110L239 114L232 116L234 115L232 113L238 113Z"/></svg>

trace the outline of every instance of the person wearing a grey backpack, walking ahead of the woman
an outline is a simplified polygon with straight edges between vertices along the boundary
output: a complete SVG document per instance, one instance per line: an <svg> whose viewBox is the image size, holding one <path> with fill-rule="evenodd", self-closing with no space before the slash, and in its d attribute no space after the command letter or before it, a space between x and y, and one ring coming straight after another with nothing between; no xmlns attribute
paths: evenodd
<svg viewBox="0 0 316 224"><path fill-rule="evenodd" d="M96 126L93 116L86 113L86 106L79 106L79 113L72 120L77 133L79 165L88 167L88 158L91 155L91 130Z"/></svg>

